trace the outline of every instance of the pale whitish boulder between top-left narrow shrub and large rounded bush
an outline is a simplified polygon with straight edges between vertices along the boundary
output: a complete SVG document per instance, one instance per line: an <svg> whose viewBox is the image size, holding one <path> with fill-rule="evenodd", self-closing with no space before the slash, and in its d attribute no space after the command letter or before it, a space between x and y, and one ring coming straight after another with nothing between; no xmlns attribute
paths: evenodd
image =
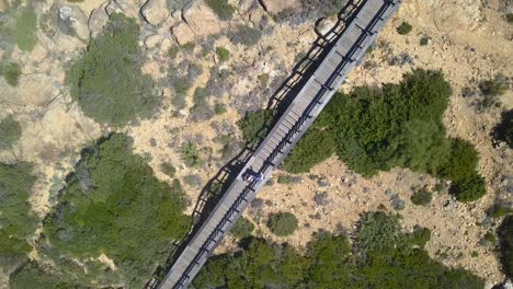
<svg viewBox="0 0 513 289"><path fill-rule="evenodd" d="M88 18L76 5L64 5L59 9L59 30L67 34L79 37L82 41L89 39Z"/></svg>

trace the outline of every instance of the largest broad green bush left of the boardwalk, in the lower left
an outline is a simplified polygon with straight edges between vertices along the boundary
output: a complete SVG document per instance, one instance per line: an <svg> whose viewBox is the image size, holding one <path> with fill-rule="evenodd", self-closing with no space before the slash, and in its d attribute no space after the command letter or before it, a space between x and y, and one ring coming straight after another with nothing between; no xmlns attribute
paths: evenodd
<svg viewBox="0 0 513 289"><path fill-rule="evenodd" d="M187 232L190 219L180 182L160 182L132 150L133 140L119 134L84 149L44 234L57 256L86 259L104 253L126 287L142 288L171 243ZM104 271L98 275L101 279Z"/></svg>

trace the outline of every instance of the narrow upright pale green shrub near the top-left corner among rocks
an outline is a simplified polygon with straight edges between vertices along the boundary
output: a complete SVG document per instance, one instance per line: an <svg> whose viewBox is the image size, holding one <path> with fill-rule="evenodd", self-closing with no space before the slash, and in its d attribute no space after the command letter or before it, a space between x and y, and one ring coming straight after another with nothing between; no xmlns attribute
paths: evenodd
<svg viewBox="0 0 513 289"><path fill-rule="evenodd" d="M37 43L36 27L37 15L34 9L29 5L21 8L14 28L14 41L22 51L34 49Z"/></svg>

